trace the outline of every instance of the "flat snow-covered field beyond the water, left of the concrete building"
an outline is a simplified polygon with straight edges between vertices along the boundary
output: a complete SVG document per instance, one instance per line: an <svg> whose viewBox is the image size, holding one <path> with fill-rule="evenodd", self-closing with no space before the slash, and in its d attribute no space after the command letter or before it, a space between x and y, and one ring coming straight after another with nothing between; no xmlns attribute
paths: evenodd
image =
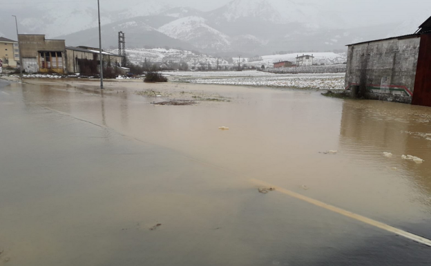
<svg viewBox="0 0 431 266"><path fill-rule="evenodd" d="M342 90L345 73L335 74L273 74L260 71L242 72L165 72L173 82L285 88Z"/></svg>

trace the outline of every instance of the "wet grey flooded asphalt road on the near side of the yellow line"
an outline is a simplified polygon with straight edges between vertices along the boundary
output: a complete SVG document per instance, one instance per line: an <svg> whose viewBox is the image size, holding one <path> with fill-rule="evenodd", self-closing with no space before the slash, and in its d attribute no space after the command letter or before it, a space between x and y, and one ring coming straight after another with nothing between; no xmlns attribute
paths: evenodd
<svg viewBox="0 0 431 266"><path fill-rule="evenodd" d="M48 107L49 88L32 101L31 90L0 80L0 265L431 263L430 247L262 195L232 171Z"/></svg>

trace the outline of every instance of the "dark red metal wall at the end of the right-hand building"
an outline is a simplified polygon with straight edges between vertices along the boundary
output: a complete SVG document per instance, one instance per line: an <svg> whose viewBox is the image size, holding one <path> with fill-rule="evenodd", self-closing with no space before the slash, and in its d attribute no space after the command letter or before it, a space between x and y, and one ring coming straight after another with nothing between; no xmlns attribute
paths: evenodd
<svg viewBox="0 0 431 266"><path fill-rule="evenodd" d="M431 34L421 35L412 104L431 106Z"/></svg>

